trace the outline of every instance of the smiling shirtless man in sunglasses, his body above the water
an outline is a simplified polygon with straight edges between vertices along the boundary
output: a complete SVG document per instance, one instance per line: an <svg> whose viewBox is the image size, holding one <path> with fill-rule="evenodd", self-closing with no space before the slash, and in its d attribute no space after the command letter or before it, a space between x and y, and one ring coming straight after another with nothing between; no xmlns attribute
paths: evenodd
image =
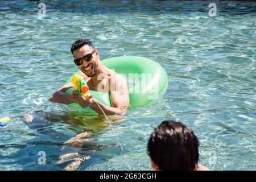
<svg viewBox="0 0 256 182"><path fill-rule="evenodd" d="M105 67L100 61L98 49L94 49L92 42L88 39L80 39L71 46L71 52L75 57L75 64L81 70L80 75L84 77L89 89L98 92L108 92L112 107L97 101L92 94L89 98L79 97L76 90L73 94L64 93L74 85L72 82L61 86L50 98L49 101L61 104L78 103L82 107L90 107L98 114L126 114L130 104L126 78ZM100 107L97 105L100 105Z"/></svg>

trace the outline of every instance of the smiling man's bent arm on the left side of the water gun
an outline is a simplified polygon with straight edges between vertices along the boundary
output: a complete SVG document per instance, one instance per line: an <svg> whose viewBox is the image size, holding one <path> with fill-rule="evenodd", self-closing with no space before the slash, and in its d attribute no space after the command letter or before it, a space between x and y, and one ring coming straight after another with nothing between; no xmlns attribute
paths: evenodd
<svg viewBox="0 0 256 182"><path fill-rule="evenodd" d="M72 94L64 93L69 88L72 88L74 85L72 82L61 86L50 98L51 102L58 102L61 104L71 104L74 102Z"/></svg>

